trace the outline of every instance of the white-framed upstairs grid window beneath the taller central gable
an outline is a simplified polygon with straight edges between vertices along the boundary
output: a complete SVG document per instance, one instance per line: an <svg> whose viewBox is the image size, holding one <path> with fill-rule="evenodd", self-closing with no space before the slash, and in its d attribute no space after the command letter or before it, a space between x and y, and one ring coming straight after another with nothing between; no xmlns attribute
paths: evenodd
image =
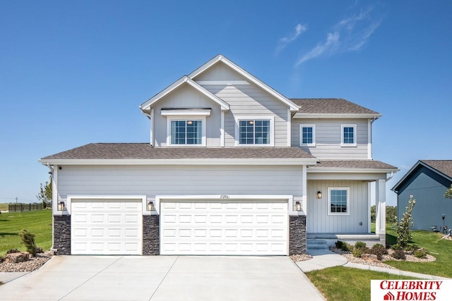
<svg viewBox="0 0 452 301"><path fill-rule="evenodd" d="M273 117L238 118L236 142L240 146L273 146Z"/></svg>

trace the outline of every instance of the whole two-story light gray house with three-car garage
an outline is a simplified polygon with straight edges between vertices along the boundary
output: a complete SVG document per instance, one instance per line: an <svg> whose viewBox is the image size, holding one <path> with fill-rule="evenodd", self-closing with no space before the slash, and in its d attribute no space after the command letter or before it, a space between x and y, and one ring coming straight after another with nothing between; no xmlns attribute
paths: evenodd
<svg viewBox="0 0 452 301"><path fill-rule="evenodd" d="M372 160L380 113L287 99L221 55L140 109L149 142L40 159L53 172L58 254L287 255L306 252L307 237L384 243L386 180L398 169Z"/></svg>

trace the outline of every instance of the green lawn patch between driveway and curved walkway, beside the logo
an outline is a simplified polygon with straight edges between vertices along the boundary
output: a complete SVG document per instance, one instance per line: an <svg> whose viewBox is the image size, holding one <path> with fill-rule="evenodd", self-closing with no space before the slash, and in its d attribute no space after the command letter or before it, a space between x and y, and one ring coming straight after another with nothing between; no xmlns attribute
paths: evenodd
<svg viewBox="0 0 452 301"><path fill-rule="evenodd" d="M415 279L376 271L346 268L344 266L310 271L306 273L306 276L328 301L370 300L371 280Z"/></svg>

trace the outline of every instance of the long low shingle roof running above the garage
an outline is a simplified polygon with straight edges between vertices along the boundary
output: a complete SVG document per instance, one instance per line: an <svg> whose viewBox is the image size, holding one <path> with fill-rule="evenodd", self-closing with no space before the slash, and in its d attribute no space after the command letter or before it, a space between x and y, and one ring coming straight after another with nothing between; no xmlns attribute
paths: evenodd
<svg viewBox="0 0 452 301"><path fill-rule="evenodd" d="M52 159L309 159L299 147L151 147L148 143L91 143L45 156Z"/></svg>

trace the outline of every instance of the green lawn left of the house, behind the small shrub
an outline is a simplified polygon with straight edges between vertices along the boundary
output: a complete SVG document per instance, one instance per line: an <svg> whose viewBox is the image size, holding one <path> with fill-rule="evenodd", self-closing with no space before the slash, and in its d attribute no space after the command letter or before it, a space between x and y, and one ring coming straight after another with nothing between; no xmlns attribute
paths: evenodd
<svg viewBox="0 0 452 301"><path fill-rule="evenodd" d="M23 229L35 234L35 242L43 250L52 247L52 210L10 212L0 214L0 255L25 246L18 233Z"/></svg>

